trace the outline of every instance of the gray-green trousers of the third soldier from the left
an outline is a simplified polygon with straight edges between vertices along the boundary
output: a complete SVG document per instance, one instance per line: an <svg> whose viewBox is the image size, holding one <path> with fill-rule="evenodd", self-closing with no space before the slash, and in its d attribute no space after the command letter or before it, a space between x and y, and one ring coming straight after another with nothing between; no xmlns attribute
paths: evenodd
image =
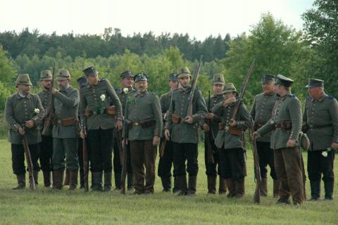
<svg viewBox="0 0 338 225"><path fill-rule="evenodd" d="M53 139L53 169L79 169L77 139Z"/></svg>

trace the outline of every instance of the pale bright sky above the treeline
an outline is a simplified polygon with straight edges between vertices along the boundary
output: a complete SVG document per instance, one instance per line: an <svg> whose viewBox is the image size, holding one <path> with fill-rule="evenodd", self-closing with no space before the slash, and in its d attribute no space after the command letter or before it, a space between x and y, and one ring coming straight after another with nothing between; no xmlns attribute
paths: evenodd
<svg viewBox="0 0 338 225"><path fill-rule="evenodd" d="M270 12L300 30L301 14L314 0L5 0L0 32L28 27L40 33L103 34L119 28L124 36L152 31L179 33L203 40L220 34L249 32L262 13Z"/></svg>

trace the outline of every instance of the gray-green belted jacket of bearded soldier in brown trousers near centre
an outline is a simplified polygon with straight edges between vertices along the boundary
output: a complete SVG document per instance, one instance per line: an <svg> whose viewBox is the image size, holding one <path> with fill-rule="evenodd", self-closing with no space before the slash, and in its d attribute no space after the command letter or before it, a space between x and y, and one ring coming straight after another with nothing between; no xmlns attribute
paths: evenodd
<svg viewBox="0 0 338 225"><path fill-rule="evenodd" d="M152 121L153 125L142 127L145 121ZM156 94L148 91L129 94L123 137L130 141L152 140L154 136L161 136L162 124L160 100Z"/></svg>

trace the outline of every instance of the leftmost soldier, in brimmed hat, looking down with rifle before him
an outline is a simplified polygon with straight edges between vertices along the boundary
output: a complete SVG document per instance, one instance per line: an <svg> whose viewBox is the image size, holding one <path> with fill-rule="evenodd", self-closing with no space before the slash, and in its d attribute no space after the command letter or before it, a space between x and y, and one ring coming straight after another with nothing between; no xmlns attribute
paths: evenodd
<svg viewBox="0 0 338 225"><path fill-rule="evenodd" d="M18 179L18 186L13 189L23 189L25 181L25 150L23 148L23 135L25 135L30 148L33 164L33 176L37 184L39 163L39 142L41 135L38 125L44 118L44 108L37 94L30 94L29 75L19 75L16 79L18 92L9 96L5 105L5 119L8 124L8 141L11 142L13 173ZM32 181L31 177L30 180ZM32 182L30 182L32 185Z"/></svg>

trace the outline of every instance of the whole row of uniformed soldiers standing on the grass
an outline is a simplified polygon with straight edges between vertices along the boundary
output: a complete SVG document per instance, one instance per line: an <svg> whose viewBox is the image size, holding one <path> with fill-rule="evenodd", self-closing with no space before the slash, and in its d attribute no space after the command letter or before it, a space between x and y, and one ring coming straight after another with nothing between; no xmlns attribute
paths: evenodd
<svg viewBox="0 0 338 225"><path fill-rule="evenodd" d="M30 180L34 178L37 184L39 160L46 188L60 190L68 184L69 190L74 190L79 171L80 188L84 188L84 139L92 191L111 191L112 170L115 189L122 188L125 167L129 191L154 193L159 145L158 176L163 191L195 195L199 129L203 129L208 193L216 193L219 176L220 195L242 198L246 176L244 131L252 129L250 136L256 140L262 178L261 195L268 195L269 165L277 203L290 204L290 196L294 205L303 203L305 173L299 137L307 134L310 200L320 199L322 176L325 200L333 199L338 103L325 94L323 80L309 80L302 113L301 102L291 94L293 80L282 75L263 75L263 93L255 96L249 111L242 101L236 110L237 89L234 84L225 83L221 74L213 76L213 95L204 99L199 89L192 89L192 74L187 67L169 75L170 91L161 98L148 92L149 77L144 73L121 73L121 87L114 89L107 79L99 79L94 66L83 72L84 76L77 79L77 90L70 86L68 70L60 70L56 89L51 71L44 70L39 80L42 91L38 94L30 93L29 75L18 76L18 92L8 97L5 108L13 173L18 179L15 189L25 188L25 136L33 165ZM187 115L189 96L193 96L192 115ZM47 117L52 118L49 134L43 131Z"/></svg>

